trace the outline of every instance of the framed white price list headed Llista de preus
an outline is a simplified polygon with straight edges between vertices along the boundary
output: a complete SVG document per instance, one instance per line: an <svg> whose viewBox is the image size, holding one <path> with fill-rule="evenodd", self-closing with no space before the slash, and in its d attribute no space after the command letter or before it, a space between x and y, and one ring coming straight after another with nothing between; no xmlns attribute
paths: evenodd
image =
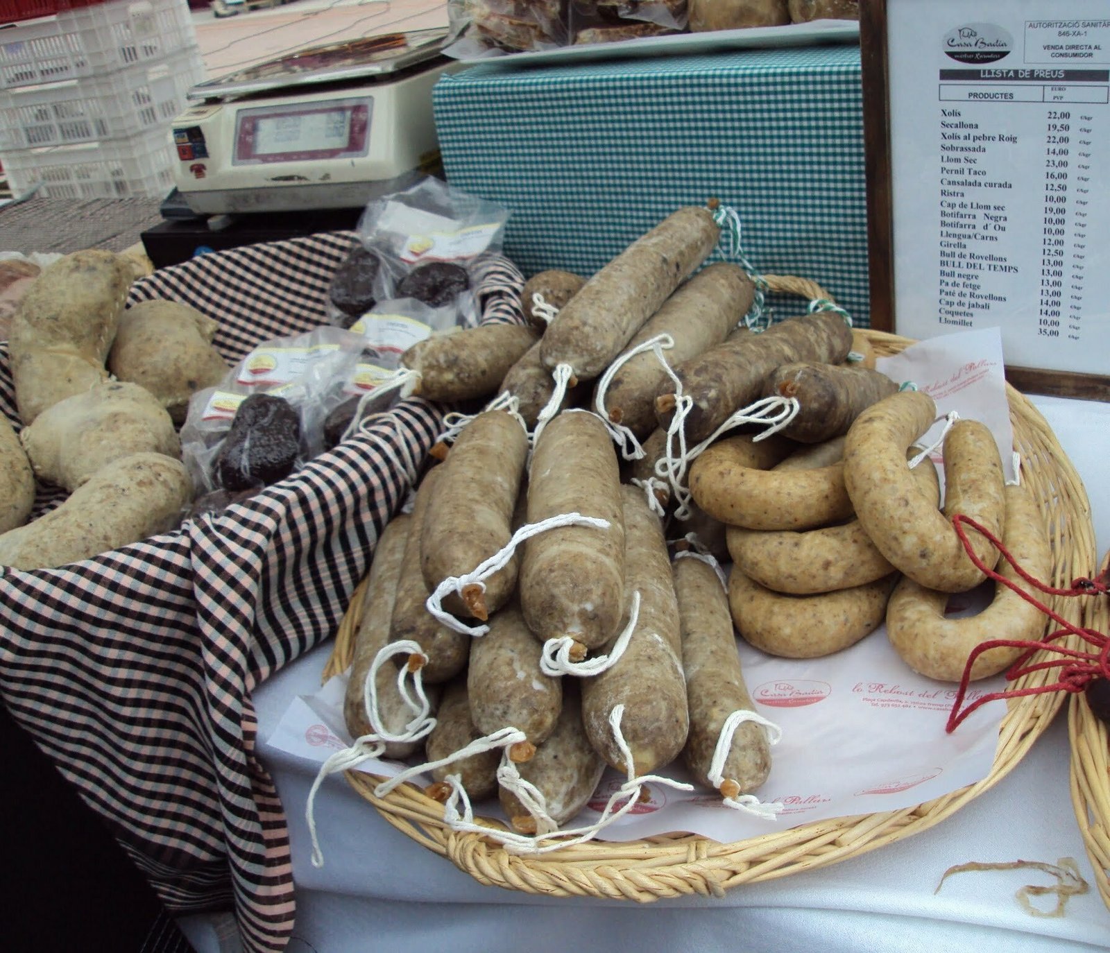
<svg viewBox="0 0 1110 953"><path fill-rule="evenodd" d="M1110 399L1110 4L865 0L860 33L872 324L997 326L1017 386Z"/></svg>

